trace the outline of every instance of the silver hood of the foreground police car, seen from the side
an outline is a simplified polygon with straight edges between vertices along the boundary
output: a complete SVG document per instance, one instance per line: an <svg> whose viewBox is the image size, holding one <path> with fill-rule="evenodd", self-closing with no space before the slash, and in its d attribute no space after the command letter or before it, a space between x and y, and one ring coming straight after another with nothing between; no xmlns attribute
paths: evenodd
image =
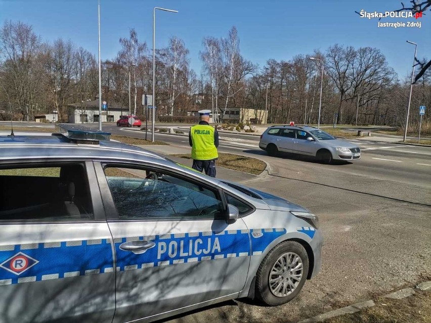
<svg viewBox="0 0 431 323"><path fill-rule="evenodd" d="M262 192L253 188L249 188L246 186L243 186L241 184L238 184L236 182L233 181L229 181L229 180L221 180L221 182L228 184L228 186L230 186L229 184L233 184L234 186L237 186L241 189L242 193L245 193L247 195L249 195L250 197L253 197L255 199L261 200L262 202L264 202L266 205L268 205L270 210L273 211L297 211L297 212L310 212L310 210L306 209L303 206L300 206L298 204L295 204L293 202L290 202L286 199L283 199L279 196L275 196L273 194L270 193L266 193L266 192ZM232 186L230 186L230 188L232 188ZM247 193L248 191L248 193Z"/></svg>

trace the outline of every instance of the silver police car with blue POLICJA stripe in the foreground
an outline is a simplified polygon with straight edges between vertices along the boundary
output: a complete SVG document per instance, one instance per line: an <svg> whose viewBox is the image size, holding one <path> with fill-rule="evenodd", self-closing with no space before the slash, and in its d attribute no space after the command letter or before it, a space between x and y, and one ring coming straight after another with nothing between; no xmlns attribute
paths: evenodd
<svg viewBox="0 0 431 323"><path fill-rule="evenodd" d="M293 299L321 267L309 210L102 131L0 136L0 322L153 321Z"/></svg>

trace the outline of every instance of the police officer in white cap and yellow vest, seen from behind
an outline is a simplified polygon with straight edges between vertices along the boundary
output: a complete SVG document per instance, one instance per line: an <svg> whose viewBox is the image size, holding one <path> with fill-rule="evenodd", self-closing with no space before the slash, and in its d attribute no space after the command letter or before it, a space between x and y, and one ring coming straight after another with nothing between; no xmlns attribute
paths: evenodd
<svg viewBox="0 0 431 323"><path fill-rule="evenodd" d="M190 128L189 145L192 147L193 169L205 170L205 174L215 177L215 160L219 157L219 132L209 125L211 110L200 110L200 122Z"/></svg>

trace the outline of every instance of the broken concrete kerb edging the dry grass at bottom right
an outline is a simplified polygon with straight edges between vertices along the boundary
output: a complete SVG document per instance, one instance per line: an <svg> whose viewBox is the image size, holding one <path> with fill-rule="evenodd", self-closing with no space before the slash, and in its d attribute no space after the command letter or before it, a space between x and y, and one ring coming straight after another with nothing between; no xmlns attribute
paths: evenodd
<svg viewBox="0 0 431 323"><path fill-rule="evenodd" d="M422 291L429 290L429 289L431 289L431 281L422 282L422 283L418 284L415 288L420 289ZM406 297L411 296L413 294L415 294L415 291L413 288L405 288L405 289L399 290L399 291L394 292L394 293L386 294L383 297L392 298L392 299L403 299L403 298L406 298ZM338 309L330 311L330 312L319 314L319 315L301 320L298 323L323 322L324 320L332 318L332 317L336 317L336 316L340 316L340 315L344 315L344 314L353 314L353 313L359 312L362 309L373 307L373 306L375 306L374 301L368 300L365 302L356 303L356 304L349 305L346 307L338 308Z"/></svg>

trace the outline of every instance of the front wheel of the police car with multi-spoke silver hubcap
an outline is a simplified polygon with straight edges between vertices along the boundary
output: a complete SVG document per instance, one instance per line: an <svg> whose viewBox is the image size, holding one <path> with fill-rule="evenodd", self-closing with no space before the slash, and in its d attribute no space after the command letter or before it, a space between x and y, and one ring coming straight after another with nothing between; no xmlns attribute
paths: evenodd
<svg viewBox="0 0 431 323"><path fill-rule="evenodd" d="M291 301L307 280L309 261L301 244L286 241L275 246L256 273L256 297L267 305Z"/></svg>

